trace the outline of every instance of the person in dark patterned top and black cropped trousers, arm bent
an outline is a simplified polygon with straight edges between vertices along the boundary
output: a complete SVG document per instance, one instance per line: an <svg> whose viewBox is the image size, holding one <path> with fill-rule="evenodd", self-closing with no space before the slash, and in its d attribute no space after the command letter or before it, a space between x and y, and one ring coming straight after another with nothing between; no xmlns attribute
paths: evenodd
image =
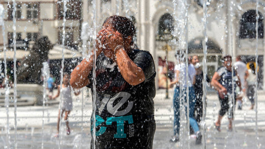
<svg viewBox="0 0 265 149"><path fill-rule="evenodd" d="M214 76L211 81L211 85L214 87L216 91L218 91L218 97L219 97L219 101L221 104L221 109L218 114L218 119L216 123L214 123L214 125L218 131L221 131L221 127L220 127L221 120L222 120L222 117L227 112L228 120L229 120L228 131L232 131L232 120L233 120L234 107L230 108L229 101L233 101L233 98L236 99L235 93L233 93L232 83L236 81L236 84L240 87L240 89L241 89L241 84L240 84L239 77L235 70L233 70L234 71L233 73L234 73L234 76L236 76L237 78L233 80L232 58L230 55L224 56L223 64L224 66L218 68L218 70L214 73ZM234 85L234 89L235 89L235 86L236 85ZM228 112L229 109L230 111Z"/></svg>

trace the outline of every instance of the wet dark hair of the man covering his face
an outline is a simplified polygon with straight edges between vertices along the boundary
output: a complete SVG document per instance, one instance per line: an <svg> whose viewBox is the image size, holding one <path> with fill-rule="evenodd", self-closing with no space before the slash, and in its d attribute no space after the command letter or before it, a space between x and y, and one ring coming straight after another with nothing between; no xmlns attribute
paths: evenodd
<svg viewBox="0 0 265 149"><path fill-rule="evenodd" d="M105 23L109 23L110 25L112 25L112 27L114 27L120 34L123 35L123 38L126 38L128 36L133 37L136 31L136 28L133 22L126 17L113 15L113 16L106 18L103 25ZM132 40L132 43L133 43L133 40Z"/></svg>

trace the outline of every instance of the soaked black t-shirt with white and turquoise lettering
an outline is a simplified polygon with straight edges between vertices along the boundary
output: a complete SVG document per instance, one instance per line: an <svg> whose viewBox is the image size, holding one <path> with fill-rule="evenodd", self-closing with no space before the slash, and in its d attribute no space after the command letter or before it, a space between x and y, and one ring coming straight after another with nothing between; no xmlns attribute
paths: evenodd
<svg viewBox="0 0 265 149"><path fill-rule="evenodd" d="M145 74L145 81L136 86L127 83L103 53L96 60L96 149L152 148L156 127L153 57L143 50L132 50L128 56ZM93 95L92 71L89 79L87 87Z"/></svg>

